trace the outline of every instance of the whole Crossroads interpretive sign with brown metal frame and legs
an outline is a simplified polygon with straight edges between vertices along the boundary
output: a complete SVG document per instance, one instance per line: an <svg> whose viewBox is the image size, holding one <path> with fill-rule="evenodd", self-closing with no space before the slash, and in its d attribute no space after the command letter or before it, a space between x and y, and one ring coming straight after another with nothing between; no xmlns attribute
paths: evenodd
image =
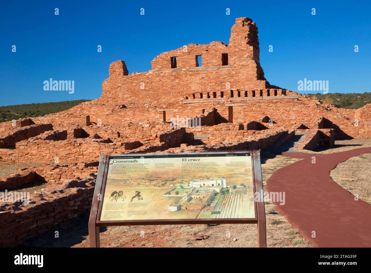
<svg viewBox="0 0 371 273"><path fill-rule="evenodd" d="M259 151L102 155L90 246L99 226L258 221L265 246L264 203L254 199L261 177Z"/></svg>

